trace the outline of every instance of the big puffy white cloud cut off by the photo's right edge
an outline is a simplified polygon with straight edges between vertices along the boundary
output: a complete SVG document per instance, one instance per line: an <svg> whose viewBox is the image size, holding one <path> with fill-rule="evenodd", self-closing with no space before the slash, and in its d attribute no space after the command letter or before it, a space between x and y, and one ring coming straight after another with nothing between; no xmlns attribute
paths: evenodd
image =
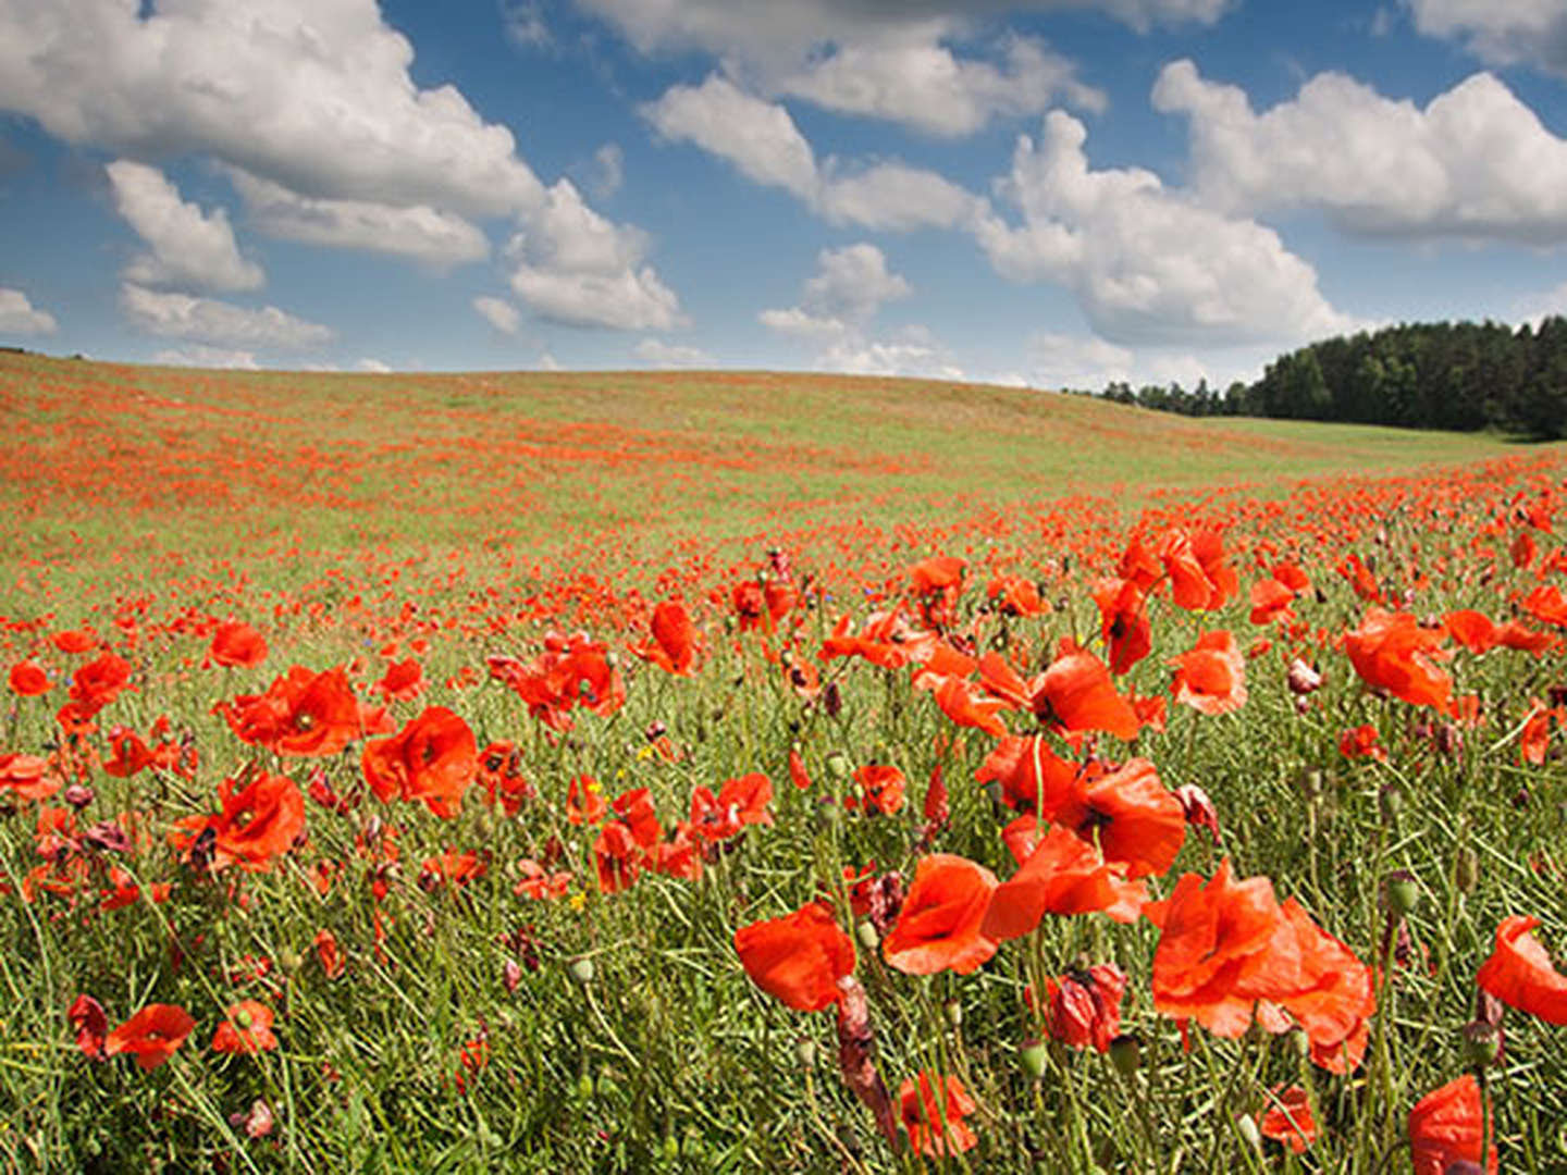
<svg viewBox="0 0 1567 1175"><path fill-rule="evenodd" d="M1257 114L1244 91L1177 61L1153 105L1188 116L1196 188L1225 212L1296 205L1359 233L1567 241L1567 139L1490 74L1424 108L1319 74Z"/></svg>

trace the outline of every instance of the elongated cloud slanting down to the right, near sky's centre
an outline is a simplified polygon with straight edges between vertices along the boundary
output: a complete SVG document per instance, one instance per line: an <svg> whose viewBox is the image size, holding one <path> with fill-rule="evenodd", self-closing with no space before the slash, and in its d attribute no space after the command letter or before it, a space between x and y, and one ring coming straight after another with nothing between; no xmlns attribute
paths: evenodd
<svg viewBox="0 0 1567 1175"><path fill-rule="evenodd" d="M981 197L921 168L846 168L837 160L818 166L780 103L747 94L719 74L700 86L671 86L642 114L671 143L693 143L752 183L793 193L834 224L895 232L951 229L984 208Z"/></svg>

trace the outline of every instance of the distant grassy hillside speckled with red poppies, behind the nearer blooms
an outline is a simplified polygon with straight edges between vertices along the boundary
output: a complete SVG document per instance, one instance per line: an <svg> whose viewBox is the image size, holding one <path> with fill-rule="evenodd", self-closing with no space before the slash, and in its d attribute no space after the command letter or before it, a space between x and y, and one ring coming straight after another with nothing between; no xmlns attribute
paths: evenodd
<svg viewBox="0 0 1567 1175"><path fill-rule="evenodd" d="M768 373L218 373L0 354L0 409L13 429L0 542L77 564L157 537L221 545L237 522L306 547L500 536L559 548L595 531L744 536L780 515L895 525L953 503L1261 489L1511 448Z"/></svg>

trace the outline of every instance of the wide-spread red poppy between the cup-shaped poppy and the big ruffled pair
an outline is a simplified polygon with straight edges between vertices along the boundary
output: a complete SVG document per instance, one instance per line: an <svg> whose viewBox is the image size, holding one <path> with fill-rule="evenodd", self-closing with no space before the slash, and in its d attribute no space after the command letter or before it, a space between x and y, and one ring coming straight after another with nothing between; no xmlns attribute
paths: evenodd
<svg viewBox="0 0 1567 1175"><path fill-rule="evenodd" d="M1019 816L1009 833L1031 832L1033 816ZM1008 837L1019 855L1026 837ZM1141 882L1124 877L1125 866L1106 865L1098 849L1070 829L1055 827L1033 848L1023 849L1022 868L990 895L981 934L993 942L1020 938L1047 913L1070 916L1103 910L1114 921L1133 923L1147 898Z"/></svg>

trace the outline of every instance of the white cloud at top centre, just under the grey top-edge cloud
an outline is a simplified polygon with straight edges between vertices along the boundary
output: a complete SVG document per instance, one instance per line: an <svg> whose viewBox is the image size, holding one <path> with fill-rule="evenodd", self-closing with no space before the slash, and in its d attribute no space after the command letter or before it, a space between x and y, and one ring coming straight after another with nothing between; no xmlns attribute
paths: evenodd
<svg viewBox="0 0 1567 1175"><path fill-rule="evenodd" d="M777 89L948 138L972 135L998 114L1042 114L1062 99L1105 108L1105 94L1078 81L1077 66L1044 42L1011 36L1001 56L1001 64L961 60L928 36L848 44L812 58Z"/></svg>

